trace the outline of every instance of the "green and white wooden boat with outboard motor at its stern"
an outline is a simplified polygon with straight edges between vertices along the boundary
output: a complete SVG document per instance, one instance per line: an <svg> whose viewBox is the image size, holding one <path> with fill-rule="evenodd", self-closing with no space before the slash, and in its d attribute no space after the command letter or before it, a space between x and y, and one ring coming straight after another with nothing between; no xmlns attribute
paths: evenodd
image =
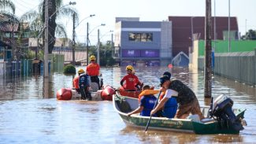
<svg viewBox="0 0 256 144"><path fill-rule="evenodd" d="M133 114L128 116L127 113L132 112L138 108L139 102L137 98L122 97L121 95L113 95L113 107L121 116L125 124L132 127L145 128L150 116L140 116ZM202 107L202 113L206 116L210 107ZM236 117L243 119L246 109L233 109ZM200 120L191 119L169 119L166 117L152 117L149 129L191 132L195 134L239 134L239 131L223 122L218 122L213 119L205 119L204 122Z"/></svg>

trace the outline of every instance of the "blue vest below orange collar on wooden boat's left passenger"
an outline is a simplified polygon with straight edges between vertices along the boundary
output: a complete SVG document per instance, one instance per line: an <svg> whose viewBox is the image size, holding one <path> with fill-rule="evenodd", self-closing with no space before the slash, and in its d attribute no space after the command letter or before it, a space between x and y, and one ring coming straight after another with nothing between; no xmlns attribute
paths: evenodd
<svg viewBox="0 0 256 144"><path fill-rule="evenodd" d="M151 110L154 108L154 104L157 102L157 98L154 97L154 95L144 95L141 98L141 103L139 104L140 106L143 106L143 111L141 111L140 115L141 116L150 116ZM154 114L153 116L156 116Z"/></svg>

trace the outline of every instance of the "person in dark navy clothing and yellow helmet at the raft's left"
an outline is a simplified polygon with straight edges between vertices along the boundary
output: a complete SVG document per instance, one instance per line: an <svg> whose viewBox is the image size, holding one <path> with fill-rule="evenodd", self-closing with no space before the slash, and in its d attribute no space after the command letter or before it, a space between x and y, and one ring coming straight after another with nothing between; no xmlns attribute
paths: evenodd
<svg viewBox="0 0 256 144"><path fill-rule="evenodd" d="M90 92L91 79L90 79L90 76L88 76L87 73L83 71L83 69L80 69L79 72L80 72L79 89L80 89L80 93L81 93L81 99L91 100L91 92Z"/></svg>

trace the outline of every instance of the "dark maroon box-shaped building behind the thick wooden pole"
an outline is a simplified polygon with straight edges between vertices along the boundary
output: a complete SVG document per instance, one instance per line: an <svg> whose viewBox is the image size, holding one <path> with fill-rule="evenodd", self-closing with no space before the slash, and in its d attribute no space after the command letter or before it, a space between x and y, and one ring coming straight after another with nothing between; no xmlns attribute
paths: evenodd
<svg viewBox="0 0 256 144"><path fill-rule="evenodd" d="M173 57L180 52L189 55L192 40L205 39L205 17L173 17ZM216 17L216 39L228 39L228 17ZM236 17L230 17L231 39L239 39ZM212 39L214 39L214 17L212 17Z"/></svg>

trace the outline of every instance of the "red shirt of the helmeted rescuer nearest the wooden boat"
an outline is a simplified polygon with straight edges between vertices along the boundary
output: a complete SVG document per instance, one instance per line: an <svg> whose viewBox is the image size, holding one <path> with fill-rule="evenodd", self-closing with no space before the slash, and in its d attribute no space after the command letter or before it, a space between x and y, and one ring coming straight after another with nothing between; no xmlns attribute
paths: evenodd
<svg viewBox="0 0 256 144"><path fill-rule="evenodd" d="M121 80L125 81L125 90L136 90L135 85L139 83L138 77L133 74L128 74Z"/></svg>

